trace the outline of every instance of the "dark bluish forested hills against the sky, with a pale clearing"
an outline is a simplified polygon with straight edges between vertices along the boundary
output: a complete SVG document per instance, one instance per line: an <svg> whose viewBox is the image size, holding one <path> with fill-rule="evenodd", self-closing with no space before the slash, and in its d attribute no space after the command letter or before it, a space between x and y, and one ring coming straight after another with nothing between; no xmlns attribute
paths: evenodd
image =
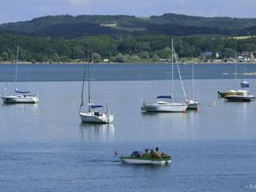
<svg viewBox="0 0 256 192"><path fill-rule="evenodd" d="M199 17L164 14L140 18L133 15L54 15L0 25L0 33L74 38L86 35L254 35L256 19Z"/></svg>

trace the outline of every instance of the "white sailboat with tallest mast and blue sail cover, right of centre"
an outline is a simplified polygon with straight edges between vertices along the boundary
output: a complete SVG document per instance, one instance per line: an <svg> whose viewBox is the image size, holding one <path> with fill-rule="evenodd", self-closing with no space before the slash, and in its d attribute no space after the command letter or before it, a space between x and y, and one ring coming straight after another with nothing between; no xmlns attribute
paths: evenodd
<svg viewBox="0 0 256 192"><path fill-rule="evenodd" d="M161 95L158 96L157 99L160 99L159 101L155 103L147 103L143 101L143 104L141 106L142 111L152 111L152 112L184 112L186 111L186 108L188 107L188 104L185 103L175 103L173 99L173 93L174 93L174 57L176 61L176 65L178 68L178 74L179 78L182 84L182 90L183 94L186 99L185 95L185 88L182 82L182 76L178 67L178 61L176 58L174 46L173 46L173 39L171 39L171 70L172 70L172 75L171 75L171 87L172 87L172 95ZM172 99L172 101L168 101Z"/></svg>

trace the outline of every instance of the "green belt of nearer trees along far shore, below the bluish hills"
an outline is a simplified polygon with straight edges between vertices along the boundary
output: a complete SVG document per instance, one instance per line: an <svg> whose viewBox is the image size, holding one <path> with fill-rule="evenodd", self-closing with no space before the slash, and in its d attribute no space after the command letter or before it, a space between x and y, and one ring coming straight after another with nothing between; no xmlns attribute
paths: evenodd
<svg viewBox="0 0 256 192"><path fill-rule="evenodd" d="M219 53L220 58L234 57L236 53L256 50L256 38L234 39L223 36L83 36L75 39L50 37L0 35L0 61L26 62L95 62L108 59L112 62L158 61L171 57L171 39L175 41L178 57L200 57L206 51ZM89 45L89 46L88 46Z"/></svg>

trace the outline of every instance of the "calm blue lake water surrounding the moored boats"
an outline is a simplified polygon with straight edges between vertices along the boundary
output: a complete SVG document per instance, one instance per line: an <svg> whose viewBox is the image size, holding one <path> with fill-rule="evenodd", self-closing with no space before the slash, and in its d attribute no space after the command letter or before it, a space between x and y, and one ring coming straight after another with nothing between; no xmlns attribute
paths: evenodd
<svg viewBox="0 0 256 192"><path fill-rule="evenodd" d="M256 190L251 189L256 185L256 103L227 103L216 94L238 88L240 81L231 75L234 65L227 69L219 64L210 67L213 71L197 65L200 109L185 114L140 111L142 98L154 101L170 91L170 81L161 74L166 65L160 67L161 72L152 70L157 65L113 66L103 74L92 68L98 80L92 82L93 101L108 103L115 112L112 125L81 124L81 82L76 80L82 68L72 67L61 65L61 72L54 72L57 67L52 70L51 65L43 65L42 71L37 65L19 67L22 81L30 80L19 82L19 87L38 92L40 104L0 108L0 191ZM182 67L191 95L191 66ZM256 71L255 65L246 68ZM1 81L11 81L12 69L0 66ZM143 71L155 76L146 78ZM210 77L199 71L208 71ZM256 80L250 77L250 91L255 95ZM0 89L4 87L5 82L0 83ZM13 87L10 82L8 92ZM182 101L179 81L175 81L175 100ZM114 156L115 150L128 155L156 146L171 154L171 166L131 166Z"/></svg>

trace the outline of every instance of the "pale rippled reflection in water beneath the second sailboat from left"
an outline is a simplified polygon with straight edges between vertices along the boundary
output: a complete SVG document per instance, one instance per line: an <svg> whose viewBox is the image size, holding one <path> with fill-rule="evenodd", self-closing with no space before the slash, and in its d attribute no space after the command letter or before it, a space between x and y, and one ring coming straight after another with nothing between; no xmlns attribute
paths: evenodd
<svg viewBox="0 0 256 192"><path fill-rule="evenodd" d="M115 138L115 127L112 124L84 124L79 126L82 142L109 142Z"/></svg>

